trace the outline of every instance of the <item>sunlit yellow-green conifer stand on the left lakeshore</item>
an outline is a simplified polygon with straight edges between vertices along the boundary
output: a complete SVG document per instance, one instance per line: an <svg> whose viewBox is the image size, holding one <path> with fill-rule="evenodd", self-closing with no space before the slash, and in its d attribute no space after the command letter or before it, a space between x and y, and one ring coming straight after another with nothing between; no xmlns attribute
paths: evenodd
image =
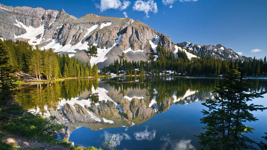
<svg viewBox="0 0 267 150"><path fill-rule="evenodd" d="M11 62L15 71L23 71L37 80L56 79L58 77L98 77L98 68L96 65L91 67L90 63L81 63L69 55L59 55L52 49L40 49L38 46L32 46L26 41L4 40L11 54Z"/></svg>

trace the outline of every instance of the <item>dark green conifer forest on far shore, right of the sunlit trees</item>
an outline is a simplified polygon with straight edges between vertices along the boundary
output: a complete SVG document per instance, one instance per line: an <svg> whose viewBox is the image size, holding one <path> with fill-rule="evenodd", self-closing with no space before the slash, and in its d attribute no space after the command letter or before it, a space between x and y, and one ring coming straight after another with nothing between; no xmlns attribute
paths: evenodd
<svg viewBox="0 0 267 150"><path fill-rule="evenodd" d="M224 75L229 69L229 65L243 65L247 70L248 76L260 76L267 72L266 56L264 59L238 60L234 62L229 60L214 59L209 56L200 56L198 58L187 58L184 51L173 53L164 47L157 47L158 59L156 61L128 61L122 56L120 60L114 60L109 66L104 66L103 73L136 74L139 71L152 75L161 74L187 74L193 76L217 76ZM177 57L176 57L176 56Z"/></svg>

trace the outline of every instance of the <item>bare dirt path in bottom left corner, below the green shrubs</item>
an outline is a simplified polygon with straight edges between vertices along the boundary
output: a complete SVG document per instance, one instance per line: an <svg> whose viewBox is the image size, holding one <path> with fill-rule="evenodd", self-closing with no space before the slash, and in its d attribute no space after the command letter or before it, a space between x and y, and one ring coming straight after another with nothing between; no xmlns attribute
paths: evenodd
<svg viewBox="0 0 267 150"><path fill-rule="evenodd" d="M69 150L69 147L64 147L62 145L51 146L52 143L44 143L36 139L28 139L12 134L5 135L1 141L6 143L15 143L16 146L20 146L20 149Z"/></svg>

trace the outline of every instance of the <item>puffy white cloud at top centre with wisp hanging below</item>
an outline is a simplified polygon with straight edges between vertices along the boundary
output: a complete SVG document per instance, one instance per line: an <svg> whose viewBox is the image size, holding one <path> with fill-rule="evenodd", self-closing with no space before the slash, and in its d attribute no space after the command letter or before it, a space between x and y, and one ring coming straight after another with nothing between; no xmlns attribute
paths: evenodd
<svg viewBox="0 0 267 150"><path fill-rule="evenodd" d="M157 3L154 2L154 0L148 0L148 1L138 0L138 1L135 1L133 9L137 10L137 11L144 12L146 14L146 18L149 18L148 12L154 12L154 13L158 12Z"/></svg>

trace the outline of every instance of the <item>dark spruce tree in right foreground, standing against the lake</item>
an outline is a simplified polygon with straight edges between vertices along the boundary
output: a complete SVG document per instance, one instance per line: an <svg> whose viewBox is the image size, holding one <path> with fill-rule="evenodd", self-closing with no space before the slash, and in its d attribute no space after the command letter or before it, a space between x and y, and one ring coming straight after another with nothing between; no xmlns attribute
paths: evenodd
<svg viewBox="0 0 267 150"><path fill-rule="evenodd" d="M206 149L252 149L250 143L255 142L242 133L254 129L244 123L258 120L250 111L266 109L262 105L247 105L247 101L262 97L267 91L251 92L250 84L244 80L244 69L230 65L229 70L225 81L219 80L217 83L215 100L207 99L202 103L209 110L202 111L205 117L200 120L206 124L206 132L198 138Z"/></svg>

